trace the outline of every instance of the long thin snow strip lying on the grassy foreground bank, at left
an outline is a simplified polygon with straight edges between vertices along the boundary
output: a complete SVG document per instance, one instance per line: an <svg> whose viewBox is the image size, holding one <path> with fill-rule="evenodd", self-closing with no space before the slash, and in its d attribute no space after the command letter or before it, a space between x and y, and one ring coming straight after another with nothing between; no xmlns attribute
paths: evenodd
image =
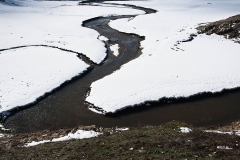
<svg viewBox="0 0 240 160"><path fill-rule="evenodd" d="M67 140L71 140L71 139L92 138L92 137L97 137L101 134L102 133L95 132L95 131L77 130L75 133L69 133L67 136L63 136L60 138L54 138L52 140L43 140L43 141L38 141L38 142L32 141L30 143L26 143L24 145L24 147L36 146L36 145L48 143L48 142L59 142L59 141L67 141Z"/></svg>

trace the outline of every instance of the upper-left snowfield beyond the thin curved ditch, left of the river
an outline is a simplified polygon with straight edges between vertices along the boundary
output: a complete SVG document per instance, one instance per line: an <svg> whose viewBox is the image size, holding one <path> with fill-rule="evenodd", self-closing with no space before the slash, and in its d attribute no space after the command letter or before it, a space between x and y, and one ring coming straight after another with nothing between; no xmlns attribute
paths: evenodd
<svg viewBox="0 0 240 160"><path fill-rule="evenodd" d="M49 45L87 55L95 63L106 57L99 33L82 27L84 20L109 14L142 14L128 8L78 6L74 1L15 1L0 3L0 49L25 45ZM94 46L94 47L92 47Z"/></svg>

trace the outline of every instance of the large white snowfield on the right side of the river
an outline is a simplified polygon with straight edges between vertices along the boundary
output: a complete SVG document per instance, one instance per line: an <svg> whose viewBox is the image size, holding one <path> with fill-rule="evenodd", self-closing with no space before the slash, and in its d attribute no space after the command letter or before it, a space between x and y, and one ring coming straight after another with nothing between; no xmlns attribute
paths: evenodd
<svg viewBox="0 0 240 160"><path fill-rule="evenodd" d="M146 101L240 87L239 44L218 35L197 35L193 41L182 42L196 34L194 28L200 23L239 14L238 0L117 3L154 8L158 12L110 23L122 32L145 36L142 55L92 83L87 102L114 113Z"/></svg>

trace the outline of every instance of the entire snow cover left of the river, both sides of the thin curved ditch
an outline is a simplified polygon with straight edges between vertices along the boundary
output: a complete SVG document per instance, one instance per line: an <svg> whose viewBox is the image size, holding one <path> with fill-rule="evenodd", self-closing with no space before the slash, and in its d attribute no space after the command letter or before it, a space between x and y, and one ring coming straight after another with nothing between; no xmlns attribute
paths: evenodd
<svg viewBox="0 0 240 160"><path fill-rule="evenodd" d="M102 40L107 38L82 27L82 22L122 13L143 12L109 5L79 6L77 1L0 2L0 21L4 22L0 25L0 113L6 115L4 111L32 103L83 73L89 65L72 52L100 64L106 57ZM36 47L42 45L46 47Z"/></svg>

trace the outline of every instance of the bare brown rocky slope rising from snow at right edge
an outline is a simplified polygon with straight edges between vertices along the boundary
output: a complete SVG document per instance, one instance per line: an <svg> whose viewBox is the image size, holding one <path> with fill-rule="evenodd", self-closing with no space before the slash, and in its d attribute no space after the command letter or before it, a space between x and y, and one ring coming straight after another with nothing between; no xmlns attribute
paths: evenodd
<svg viewBox="0 0 240 160"><path fill-rule="evenodd" d="M215 33L240 43L240 14L206 25L201 25L197 29L199 34L206 33L207 35L211 35Z"/></svg>

